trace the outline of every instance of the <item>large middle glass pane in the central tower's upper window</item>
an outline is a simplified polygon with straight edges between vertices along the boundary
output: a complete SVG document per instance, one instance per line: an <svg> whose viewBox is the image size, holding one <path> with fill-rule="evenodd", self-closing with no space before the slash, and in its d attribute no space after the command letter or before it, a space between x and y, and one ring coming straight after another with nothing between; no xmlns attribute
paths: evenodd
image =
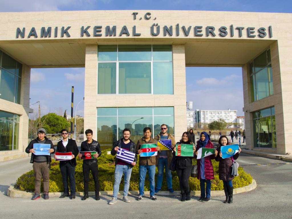
<svg viewBox="0 0 292 219"><path fill-rule="evenodd" d="M151 63L120 62L119 93L151 93Z"/></svg>

